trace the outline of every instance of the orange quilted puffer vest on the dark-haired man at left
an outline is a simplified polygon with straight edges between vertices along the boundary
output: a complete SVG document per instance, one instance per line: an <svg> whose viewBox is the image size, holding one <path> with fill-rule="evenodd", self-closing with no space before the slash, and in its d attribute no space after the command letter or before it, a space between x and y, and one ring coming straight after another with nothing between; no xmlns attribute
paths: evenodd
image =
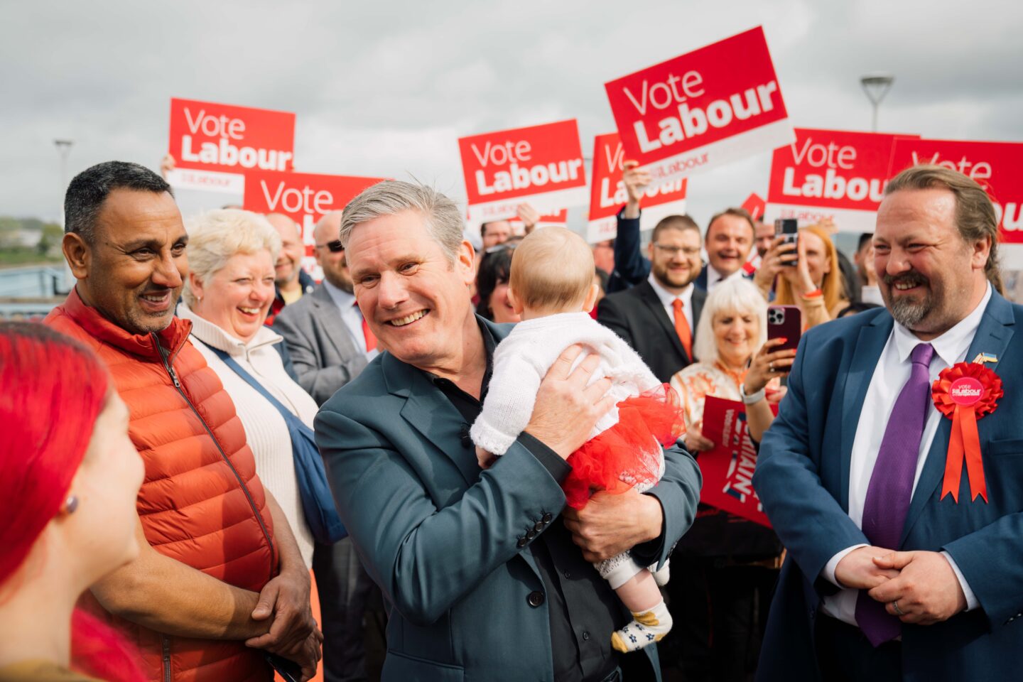
<svg viewBox="0 0 1023 682"><path fill-rule="evenodd" d="M131 411L129 433L145 462L138 514L158 552L229 585L258 592L277 571L273 525L234 404L188 342L191 322L135 335L72 290L45 324L106 364ZM86 606L100 609L86 593ZM108 617L134 642L150 680L268 680L243 642L170 637Z"/></svg>

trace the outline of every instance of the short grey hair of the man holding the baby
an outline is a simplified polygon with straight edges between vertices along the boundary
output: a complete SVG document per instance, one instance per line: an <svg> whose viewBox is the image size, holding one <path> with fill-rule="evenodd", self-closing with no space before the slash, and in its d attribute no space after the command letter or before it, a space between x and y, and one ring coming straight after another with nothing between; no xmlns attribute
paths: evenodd
<svg viewBox="0 0 1023 682"><path fill-rule="evenodd" d="M349 201L341 215L341 243L347 248L352 230L362 223L402 211L415 211L422 216L431 236L453 264L464 229L458 204L433 187L401 180L379 182Z"/></svg>

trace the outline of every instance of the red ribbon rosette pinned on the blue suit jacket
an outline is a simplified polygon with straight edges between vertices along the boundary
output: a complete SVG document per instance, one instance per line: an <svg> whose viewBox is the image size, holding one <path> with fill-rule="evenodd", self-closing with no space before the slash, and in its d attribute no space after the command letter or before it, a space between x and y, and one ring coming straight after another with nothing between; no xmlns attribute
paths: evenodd
<svg viewBox="0 0 1023 682"><path fill-rule="evenodd" d="M945 479L941 499L949 493L959 502L963 461L970 480L970 499L977 496L987 502L987 485L984 483L984 463L980 454L980 437L977 419L990 414L997 407L997 400L1005 395L1002 378L982 364L961 362L942 370L931 390L934 406L952 420L945 457Z"/></svg>

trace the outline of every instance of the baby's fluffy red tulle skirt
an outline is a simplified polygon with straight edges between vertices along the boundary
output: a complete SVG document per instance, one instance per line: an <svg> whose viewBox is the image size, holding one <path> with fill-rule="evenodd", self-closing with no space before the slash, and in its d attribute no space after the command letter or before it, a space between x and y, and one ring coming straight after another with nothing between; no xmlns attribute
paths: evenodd
<svg viewBox="0 0 1023 682"><path fill-rule="evenodd" d="M672 446L685 433L678 395L667 383L618 403L618 423L569 455L572 465L562 489L570 507L586 506L603 490L619 495L661 474L660 446Z"/></svg>

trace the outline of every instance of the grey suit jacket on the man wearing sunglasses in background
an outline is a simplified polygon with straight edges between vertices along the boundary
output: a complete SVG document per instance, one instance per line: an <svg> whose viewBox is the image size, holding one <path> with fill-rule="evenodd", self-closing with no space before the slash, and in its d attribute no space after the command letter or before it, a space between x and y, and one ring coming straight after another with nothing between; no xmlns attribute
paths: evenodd
<svg viewBox="0 0 1023 682"><path fill-rule="evenodd" d="M299 384L317 405L366 366L365 354L323 284L280 311L273 330L284 337Z"/></svg>

